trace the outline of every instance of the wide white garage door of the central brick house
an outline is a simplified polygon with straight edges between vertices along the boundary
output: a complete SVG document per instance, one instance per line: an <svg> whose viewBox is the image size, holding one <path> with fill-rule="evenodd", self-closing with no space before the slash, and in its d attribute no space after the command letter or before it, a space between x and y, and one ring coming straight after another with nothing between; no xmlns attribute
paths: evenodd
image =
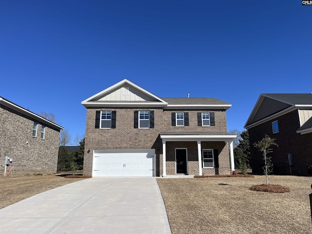
<svg viewBox="0 0 312 234"><path fill-rule="evenodd" d="M92 176L155 176L155 150L95 150Z"/></svg>

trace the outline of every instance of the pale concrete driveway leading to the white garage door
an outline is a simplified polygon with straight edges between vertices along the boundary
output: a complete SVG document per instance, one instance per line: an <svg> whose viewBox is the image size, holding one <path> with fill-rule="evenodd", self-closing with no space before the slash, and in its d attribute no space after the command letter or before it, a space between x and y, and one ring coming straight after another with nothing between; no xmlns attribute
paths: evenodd
<svg viewBox="0 0 312 234"><path fill-rule="evenodd" d="M0 233L171 234L155 177L90 178L0 209Z"/></svg>

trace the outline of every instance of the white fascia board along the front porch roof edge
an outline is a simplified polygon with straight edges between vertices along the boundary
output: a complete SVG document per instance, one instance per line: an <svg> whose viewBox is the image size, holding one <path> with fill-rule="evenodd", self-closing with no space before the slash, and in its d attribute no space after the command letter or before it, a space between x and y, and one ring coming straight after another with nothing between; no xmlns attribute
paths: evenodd
<svg viewBox="0 0 312 234"><path fill-rule="evenodd" d="M233 141L237 135L160 135L166 141Z"/></svg>

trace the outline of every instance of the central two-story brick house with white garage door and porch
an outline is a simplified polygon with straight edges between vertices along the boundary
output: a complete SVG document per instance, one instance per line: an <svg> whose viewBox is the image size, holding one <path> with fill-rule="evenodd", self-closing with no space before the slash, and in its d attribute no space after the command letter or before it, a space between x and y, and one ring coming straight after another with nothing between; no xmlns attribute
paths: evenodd
<svg viewBox="0 0 312 234"><path fill-rule="evenodd" d="M158 98L124 79L81 103L87 108L85 175L229 175L234 170L236 135L227 132L227 102Z"/></svg>

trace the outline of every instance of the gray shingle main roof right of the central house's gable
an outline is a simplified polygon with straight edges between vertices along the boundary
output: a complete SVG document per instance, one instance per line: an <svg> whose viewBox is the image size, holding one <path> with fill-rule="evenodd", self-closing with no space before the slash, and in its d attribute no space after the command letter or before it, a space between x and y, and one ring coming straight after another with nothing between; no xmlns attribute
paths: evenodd
<svg viewBox="0 0 312 234"><path fill-rule="evenodd" d="M216 98L161 98L168 105L230 105L230 103Z"/></svg>

